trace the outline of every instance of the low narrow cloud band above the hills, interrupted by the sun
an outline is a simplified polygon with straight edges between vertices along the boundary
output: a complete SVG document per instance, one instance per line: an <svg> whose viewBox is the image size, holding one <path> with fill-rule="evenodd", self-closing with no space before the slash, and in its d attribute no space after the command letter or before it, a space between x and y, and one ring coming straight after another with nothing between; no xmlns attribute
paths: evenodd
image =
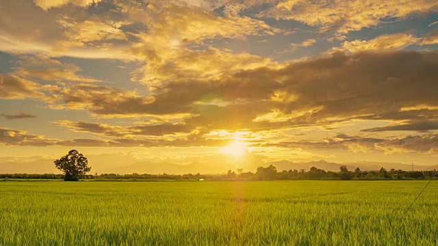
<svg viewBox="0 0 438 246"><path fill-rule="evenodd" d="M210 134L211 135L211 134ZM438 135L414 135L402 138L379 139L360 136L337 135L323 141L268 141L254 139L251 147L287 148L296 150L349 150L351 152L383 152L385 154L417 152L430 154L437 152ZM173 139L115 137L113 139L49 139L39 135L29 135L25 131L0 128L0 143L6 146L75 146L75 147L188 147L224 146L229 139L208 137L191 133Z"/></svg>

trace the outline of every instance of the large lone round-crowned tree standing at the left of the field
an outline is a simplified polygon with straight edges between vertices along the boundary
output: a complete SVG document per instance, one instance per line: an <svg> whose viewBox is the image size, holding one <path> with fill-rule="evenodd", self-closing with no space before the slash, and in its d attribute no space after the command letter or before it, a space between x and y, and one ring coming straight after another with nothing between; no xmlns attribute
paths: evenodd
<svg viewBox="0 0 438 246"><path fill-rule="evenodd" d="M77 181L91 170L91 167L88 167L86 157L77 150L70 150L66 156L62 156L54 163L57 169L64 172L64 181Z"/></svg>

